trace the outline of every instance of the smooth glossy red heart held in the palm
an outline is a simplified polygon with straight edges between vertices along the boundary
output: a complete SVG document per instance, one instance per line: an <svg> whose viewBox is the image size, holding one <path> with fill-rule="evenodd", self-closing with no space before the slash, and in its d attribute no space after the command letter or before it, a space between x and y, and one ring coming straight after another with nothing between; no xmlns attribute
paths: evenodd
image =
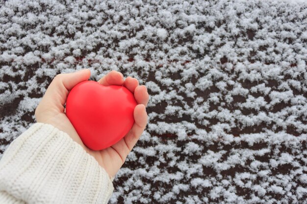
<svg viewBox="0 0 307 204"><path fill-rule="evenodd" d="M136 105L133 93L124 86L84 81L69 92L66 115L88 148L102 150L129 132Z"/></svg>

